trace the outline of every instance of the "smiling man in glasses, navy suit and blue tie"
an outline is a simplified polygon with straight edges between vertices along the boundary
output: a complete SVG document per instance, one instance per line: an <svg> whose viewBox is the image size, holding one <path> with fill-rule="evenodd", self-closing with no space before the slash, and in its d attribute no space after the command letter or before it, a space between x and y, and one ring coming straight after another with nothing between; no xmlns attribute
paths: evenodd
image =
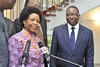
<svg viewBox="0 0 100 67"><path fill-rule="evenodd" d="M67 24L54 28L51 54L83 65L94 67L93 33L79 24L79 10L70 6L66 10ZM50 67L78 67L51 57Z"/></svg>

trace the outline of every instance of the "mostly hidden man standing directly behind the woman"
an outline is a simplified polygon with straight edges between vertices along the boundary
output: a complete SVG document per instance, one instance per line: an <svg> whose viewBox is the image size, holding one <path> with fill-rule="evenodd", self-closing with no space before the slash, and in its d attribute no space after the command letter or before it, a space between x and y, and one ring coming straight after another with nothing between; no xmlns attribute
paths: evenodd
<svg viewBox="0 0 100 67"><path fill-rule="evenodd" d="M29 6L37 7L38 9L41 10L40 0L26 0L25 7L29 7ZM47 21L44 17L42 17L40 25L42 28L45 46L47 46ZM21 31L22 29L19 19L15 20L15 29L16 29L16 33Z"/></svg>

